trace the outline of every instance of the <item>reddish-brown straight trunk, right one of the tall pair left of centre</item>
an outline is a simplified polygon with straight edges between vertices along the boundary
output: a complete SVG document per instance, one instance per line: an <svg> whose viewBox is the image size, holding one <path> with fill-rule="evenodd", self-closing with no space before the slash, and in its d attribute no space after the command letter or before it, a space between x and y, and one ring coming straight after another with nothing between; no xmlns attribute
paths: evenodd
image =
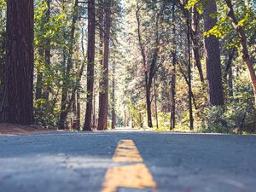
<svg viewBox="0 0 256 192"><path fill-rule="evenodd" d="M109 38L111 28L111 3L108 2L104 6L104 53L103 53L103 73L100 87L99 98L99 121L98 130L108 129L108 57L109 57Z"/></svg>

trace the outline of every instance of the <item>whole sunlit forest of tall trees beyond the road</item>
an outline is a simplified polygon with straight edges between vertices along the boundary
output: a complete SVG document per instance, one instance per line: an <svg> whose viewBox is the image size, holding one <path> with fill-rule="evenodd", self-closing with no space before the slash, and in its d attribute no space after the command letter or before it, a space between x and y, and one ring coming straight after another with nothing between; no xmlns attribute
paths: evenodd
<svg viewBox="0 0 256 192"><path fill-rule="evenodd" d="M0 0L0 122L256 131L254 0Z"/></svg>

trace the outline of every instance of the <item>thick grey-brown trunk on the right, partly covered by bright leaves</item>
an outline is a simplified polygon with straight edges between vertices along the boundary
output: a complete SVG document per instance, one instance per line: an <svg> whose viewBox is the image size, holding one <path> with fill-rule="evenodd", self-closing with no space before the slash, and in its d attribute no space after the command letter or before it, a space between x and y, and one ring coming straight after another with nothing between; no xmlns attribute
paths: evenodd
<svg viewBox="0 0 256 192"><path fill-rule="evenodd" d="M204 21L205 31L209 31L217 23L217 18L212 14L217 12L216 1L207 1ZM214 36L205 37L205 51L207 56L207 83L209 103L212 106L224 106L224 92L221 76L220 50L218 38Z"/></svg>

